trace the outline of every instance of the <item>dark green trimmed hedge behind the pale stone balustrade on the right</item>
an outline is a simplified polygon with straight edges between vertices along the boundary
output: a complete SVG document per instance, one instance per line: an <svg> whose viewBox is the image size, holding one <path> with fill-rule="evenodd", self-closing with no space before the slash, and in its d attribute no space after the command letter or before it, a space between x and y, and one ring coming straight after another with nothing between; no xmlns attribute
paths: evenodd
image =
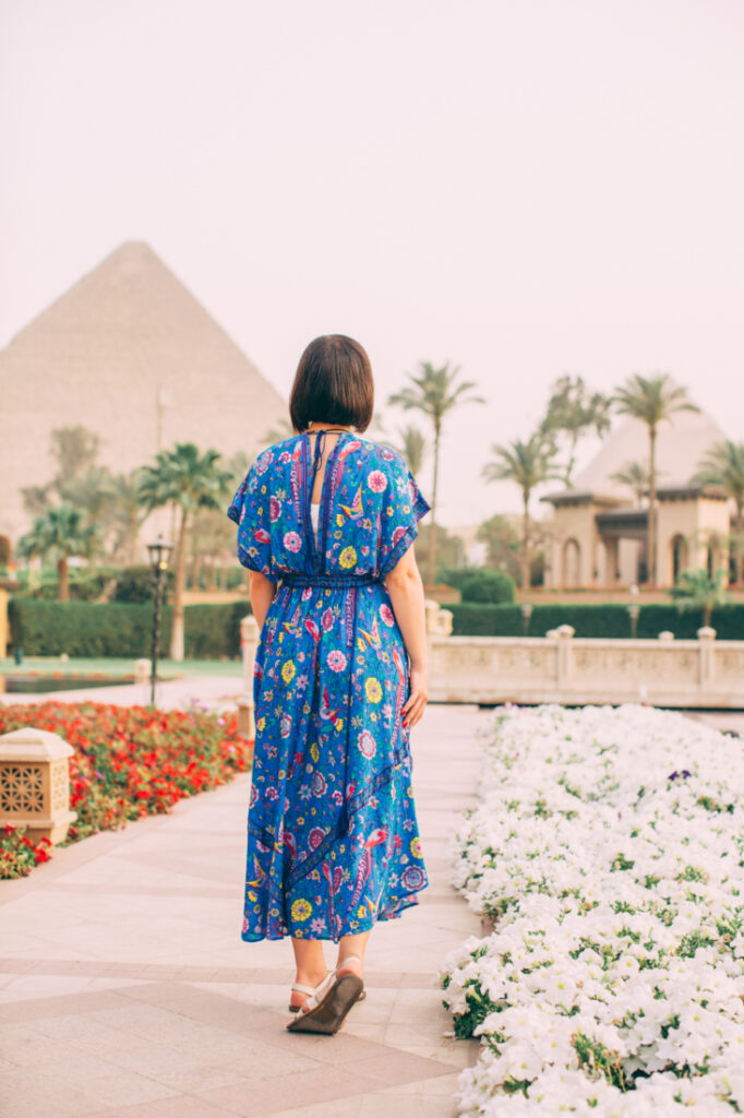
<svg viewBox="0 0 744 1118"><path fill-rule="evenodd" d="M494 606L486 603L460 601L448 605L452 612L452 636L524 636L519 606ZM736 603L714 609L710 624L721 641L744 641L744 604ZM559 625L572 625L576 636L630 637L628 606L612 601L605 605L535 605L530 618L528 636L545 636ZM695 639L703 625L703 612L680 613L674 605L649 603L640 607L638 636L656 638L669 629L678 639Z"/></svg>

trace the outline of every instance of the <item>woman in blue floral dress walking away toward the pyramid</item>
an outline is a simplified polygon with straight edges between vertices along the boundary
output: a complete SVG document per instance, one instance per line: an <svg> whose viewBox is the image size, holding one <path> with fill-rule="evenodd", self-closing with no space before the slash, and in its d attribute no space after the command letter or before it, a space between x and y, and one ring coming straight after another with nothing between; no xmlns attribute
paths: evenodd
<svg viewBox="0 0 744 1118"><path fill-rule="evenodd" d="M403 457L362 437L373 404L359 342L316 338L289 400L299 434L258 456L228 509L260 627L241 938L292 937L287 1027L303 1032L337 1032L375 921L428 884L409 738L427 704L412 543L430 505Z"/></svg>

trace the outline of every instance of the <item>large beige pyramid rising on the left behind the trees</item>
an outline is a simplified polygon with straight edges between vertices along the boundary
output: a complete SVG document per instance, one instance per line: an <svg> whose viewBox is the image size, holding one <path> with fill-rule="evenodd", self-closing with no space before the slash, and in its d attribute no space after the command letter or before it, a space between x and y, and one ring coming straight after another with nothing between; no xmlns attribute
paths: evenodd
<svg viewBox="0 0 744 1118"><path fill-rule="evenodd" d="M288 418L261 376L145 244L106 257L0 352L0 534L30 527L19 486L55 473L55 427L82 424L115 472L193 442L252 453Z"/></svg>

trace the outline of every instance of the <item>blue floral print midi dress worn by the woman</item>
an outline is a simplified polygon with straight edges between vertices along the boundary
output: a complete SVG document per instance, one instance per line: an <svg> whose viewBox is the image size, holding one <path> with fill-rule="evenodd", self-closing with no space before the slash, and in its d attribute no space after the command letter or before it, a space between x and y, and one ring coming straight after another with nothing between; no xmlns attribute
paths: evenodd
<svg viewBox="0 0 744 1118"><path fill-rule="evenodd" d="M402 722L408 654L382 579L430 505L397 451L344 432L315 541L318 437L264 451L228 509L240 562L279 584L254 673L246 941L337 942L400 917L428 884Z"/></svg>

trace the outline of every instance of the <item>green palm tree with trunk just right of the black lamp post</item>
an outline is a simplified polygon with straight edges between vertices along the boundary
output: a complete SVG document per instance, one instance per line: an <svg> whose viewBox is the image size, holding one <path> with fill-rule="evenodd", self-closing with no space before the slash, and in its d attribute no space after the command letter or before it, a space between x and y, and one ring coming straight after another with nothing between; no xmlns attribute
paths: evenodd
<svg viewBox="0 0 744 1118"><path fill-rule="evenodd" d="M147 512L164 504L180 508L181 524L175 547L175 587L171 659L183 660L183 594L185 590L187 531L197 509L220 509L230 495L233 480L230 470L219 464L219 451L201 454L194 443L177 443L172 451L160 451L154 466L143 466L140 499Z"/></svg>

